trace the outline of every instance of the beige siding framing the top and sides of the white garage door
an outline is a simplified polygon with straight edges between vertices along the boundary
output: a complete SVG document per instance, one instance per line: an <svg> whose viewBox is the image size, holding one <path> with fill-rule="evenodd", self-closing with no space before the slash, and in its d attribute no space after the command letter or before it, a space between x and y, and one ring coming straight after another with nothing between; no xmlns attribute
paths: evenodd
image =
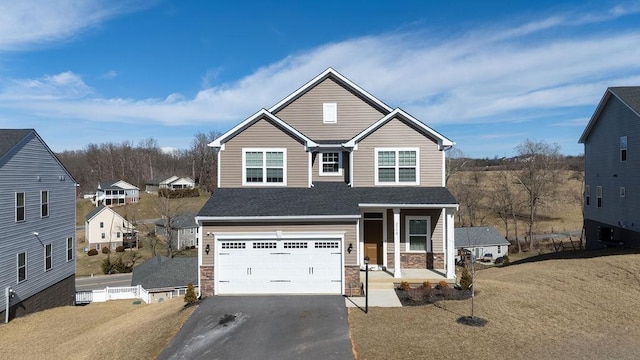
<svg viewBox="0 0 640 360"><path fill-rule="evenodd" d="M273 239L276 236L277 231L282 231L282 236L286 237L292 233L314 233L322 235L323 232L344 232L344 242L342 244L342 252L344 265L357 264L356 251L352 251L351 254L347 253L349 244L353 244L353 248L357 247L356 240L356 222L340 222L340 223L310 223L310 224L260 224L260 223L238 223L234 225L210 225L205 222L202 229L202 248L204 249L207 244L211 249L215 249L213 242L215 234L220 233L238 233L243 235L251 235L252 233L271 233L272 236L266 239ZM207 236L207 233L212 235ZM209 255L203 254L202 266L213 266L213 251Z"/></svg>

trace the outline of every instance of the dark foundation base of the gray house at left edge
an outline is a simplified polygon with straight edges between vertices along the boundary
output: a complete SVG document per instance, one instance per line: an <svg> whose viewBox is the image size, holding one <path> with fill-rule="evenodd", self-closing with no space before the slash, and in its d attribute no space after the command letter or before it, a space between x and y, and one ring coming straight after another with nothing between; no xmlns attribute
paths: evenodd
<svg viewBox="0 0 640 360"><path fill-rule="evenodd" d="M20 294L16 294L11 299L9 320L59 306L71 306L75 304L75 301L76 278L75 275L72 275L26 299L20 299ZM2 319L5 318L4 308L0 315Z"/></svg>

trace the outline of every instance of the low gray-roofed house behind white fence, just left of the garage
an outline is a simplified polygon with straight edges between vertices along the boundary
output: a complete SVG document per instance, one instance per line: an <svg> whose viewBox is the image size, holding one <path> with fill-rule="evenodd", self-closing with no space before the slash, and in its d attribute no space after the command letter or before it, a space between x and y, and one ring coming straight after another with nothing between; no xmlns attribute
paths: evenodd
<svg viewBox="0 0 640 360"><path fill-rule="evenodd" d="M151 302L184 294L187 285L198 284L197 257L153 257L133 269L131 286L141 285L149 291Z"/></svg>

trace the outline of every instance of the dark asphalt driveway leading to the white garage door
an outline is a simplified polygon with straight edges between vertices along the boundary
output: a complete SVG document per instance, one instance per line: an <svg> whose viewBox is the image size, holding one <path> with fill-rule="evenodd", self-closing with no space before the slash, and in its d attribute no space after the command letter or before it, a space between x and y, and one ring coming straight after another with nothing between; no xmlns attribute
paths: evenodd
<svg viewBox="0 0 640 360"><path fill-rule="evenodd" d="M344 298L208 297L158 359L353 359Z"/></svg>

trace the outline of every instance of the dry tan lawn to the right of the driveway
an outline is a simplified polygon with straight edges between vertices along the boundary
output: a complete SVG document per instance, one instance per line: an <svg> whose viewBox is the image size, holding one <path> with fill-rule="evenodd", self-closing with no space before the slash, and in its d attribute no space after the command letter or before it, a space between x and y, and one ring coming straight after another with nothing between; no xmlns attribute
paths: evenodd
<svg viewBox="0 0 640 360"><path fill-rule="evenodd" d="M477 274L470 300L349 310L358 359L637 359L640 254L546 260Z"/></svg>

